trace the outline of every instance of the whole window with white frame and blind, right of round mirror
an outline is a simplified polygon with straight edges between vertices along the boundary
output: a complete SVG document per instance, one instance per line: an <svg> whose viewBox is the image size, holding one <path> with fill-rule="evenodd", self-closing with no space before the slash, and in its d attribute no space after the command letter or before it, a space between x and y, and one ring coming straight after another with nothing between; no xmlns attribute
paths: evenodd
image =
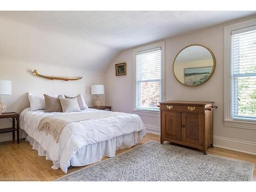
<svg viewBox="0 0 256 192"><path fill-rule="evenodd" d="M225 27L225 126L255 129L256 19Z"/></svg>

